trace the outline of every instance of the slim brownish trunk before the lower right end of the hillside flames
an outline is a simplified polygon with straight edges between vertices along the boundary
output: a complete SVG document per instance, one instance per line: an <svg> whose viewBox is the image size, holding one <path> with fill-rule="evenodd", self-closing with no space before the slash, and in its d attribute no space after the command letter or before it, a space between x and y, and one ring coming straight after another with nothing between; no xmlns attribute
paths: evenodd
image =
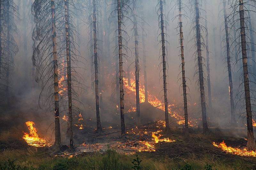
<svg viewBox="0 0 256 170"><path fill-rule="evenodd" d="M185 132L188 133L188 101L187 101L187 85L185 77L185 59L184 59L184 37L182 31L182 14L181 14L181 0L179 0L179 21L180 21L180 51L181 51L181 67L182 67L182 87L183 87L183 101L184 101L184 116L185 116Z"/></svg>

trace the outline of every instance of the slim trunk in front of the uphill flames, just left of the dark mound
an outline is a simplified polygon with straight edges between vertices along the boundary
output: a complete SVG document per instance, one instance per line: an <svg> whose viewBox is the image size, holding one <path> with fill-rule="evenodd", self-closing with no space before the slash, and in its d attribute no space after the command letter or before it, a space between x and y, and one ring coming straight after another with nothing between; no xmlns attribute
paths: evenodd
<svg viewBox="0 0 256 170"><path fill-rule="evenodd" d="M138 49L138 28L137 28L137 13L136 13L136 0L132 0L133 5L133 31L135 43L135 89L136 89L136 124L140 124L140 84L139 84L139 49Z"/></svg>

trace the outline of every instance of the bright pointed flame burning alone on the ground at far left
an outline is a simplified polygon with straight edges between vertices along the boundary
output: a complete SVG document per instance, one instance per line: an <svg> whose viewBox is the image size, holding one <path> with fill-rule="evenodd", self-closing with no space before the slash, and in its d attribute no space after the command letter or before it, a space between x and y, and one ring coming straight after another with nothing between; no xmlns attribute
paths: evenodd
<svg viewBox="0 0 256 170"><path fill-rule="evenodd" d="M28 126L29 133L23 132L23 139L28 145L35 147L51 146L51 144L48 144L45 139L38 136L36 128L33 127L33 125L35 125L34 122L28 121L26 122L26 125Z"/></svg>

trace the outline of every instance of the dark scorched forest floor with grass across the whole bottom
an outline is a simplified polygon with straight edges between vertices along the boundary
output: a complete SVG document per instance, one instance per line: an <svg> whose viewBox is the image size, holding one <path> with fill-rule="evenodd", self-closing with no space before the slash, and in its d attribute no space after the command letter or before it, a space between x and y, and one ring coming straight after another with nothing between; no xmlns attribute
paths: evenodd
<svg viewBox="0 0 256 170"><path fill-rule="evenodd" d="M192 129L192 128L191 128ZM113 133L111 133L111 130ZM147 129L148 131L149 128ZM116 132L116 133L114 133ZM242 157L221 151L212 142L225 140L228 146L244 147L243 137L232 137L221 131L211 130L203 135L201 129L192 129L189 135L184 135L179 129L172 128L169 134L162 137L175 142L161 142L154 144L153 150L143 150L140 143L150 142L147 137L128 130L126 139L119 139L119 132L108 129L103 139L94 144L77 145L75 152L65 150L52 152L51 148L33 148L20 141L14 140L12 134L0 133L0 169L132 169L133 159L138 154L142 160L141 169L256 169L256 157ZM116 134L111 135L111 134ZM135 137L139 136L139 137ZM141 137L142 136L142 137ZM151 139L152 140L152 139ZM133 141L133 142L131 142ZM113 145L113 143L117 143ZM133 144L131 144L133 143ZM91 145L91 149L88 148ZM125 149L123 149L125 148ZM138 149L139 148L139 149ZM88 150L89 149L89 150ZM151 148L152 149L152 148Z"/></svg>

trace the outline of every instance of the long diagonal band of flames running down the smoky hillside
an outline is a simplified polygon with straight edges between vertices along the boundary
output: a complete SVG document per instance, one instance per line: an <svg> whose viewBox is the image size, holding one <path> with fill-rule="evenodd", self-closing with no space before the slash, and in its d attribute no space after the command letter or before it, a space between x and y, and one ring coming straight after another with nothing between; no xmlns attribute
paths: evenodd
<svg viewBox="0 0 256 170"><path fill-rule="evenodd" d="M130 79L130 80L131 80L131 84L132 84L131 87L128 85L128 78L124 78L124 88L127 89L126 92L128 94L130 94L130 93L136 94L135 80L134 79ZM145 102L144 86L139 88L139 93L140 93L140 103ZM154 107L157 107L157 108L159 108L163 111L165 110L164 109L164 103L161 100L159 100L156 96L151 95L149 92L148 92L148 102L149 102L150 105L152 105ZM177 121L178 124L180 124L180 125L185 124L185 120L184 120L183 116L178 115L176 112L172 112L172 109L171 109L172 106L175 106L175 105L174 104L168 104L168 113L172 117L174 117L178 120ZM135 111L136 111L136 107L132 107L128 110L128 112L135 112ZM188 124L190 126L193 126L191 120L188 120Z"/></svg>

